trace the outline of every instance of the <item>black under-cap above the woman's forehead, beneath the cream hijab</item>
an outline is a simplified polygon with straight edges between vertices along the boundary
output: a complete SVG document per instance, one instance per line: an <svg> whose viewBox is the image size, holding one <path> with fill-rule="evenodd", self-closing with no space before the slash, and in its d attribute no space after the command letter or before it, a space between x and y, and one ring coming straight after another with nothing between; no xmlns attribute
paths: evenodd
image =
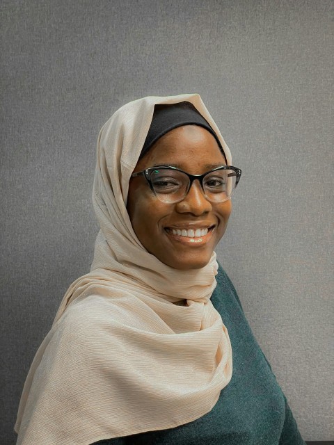
<svg viewBox="0 0 334 445"><path fill-rule="evenodd" d="M197 108L191 104L191 102L186 101L177 102L176 104L154 105L152 122L139 159L141 159L148 152L150 147L152 147L152 145L156 143L161 136L168 133L168 131L181 127L182 125L190 124L199 125L212 133L212 136L216 138L218 146L226 160L221 142L219 141L211 125L207 122L207 120L205 120L205 118L203 118L203 116L200 114Z"/></svg>

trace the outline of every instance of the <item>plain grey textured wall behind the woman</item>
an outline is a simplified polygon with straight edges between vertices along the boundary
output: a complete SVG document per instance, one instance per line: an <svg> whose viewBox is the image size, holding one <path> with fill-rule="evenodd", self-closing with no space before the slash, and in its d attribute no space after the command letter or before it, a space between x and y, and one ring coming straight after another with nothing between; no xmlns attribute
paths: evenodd
<svg viewBox="0 0 334 445"><path fill-rule="evenodd" d="M3 444L98 231L118 107L199 92L242 177L217 250L305 440L333 439L331 1L2 1ZM1 398L2 399L2 398Z"/></svg>

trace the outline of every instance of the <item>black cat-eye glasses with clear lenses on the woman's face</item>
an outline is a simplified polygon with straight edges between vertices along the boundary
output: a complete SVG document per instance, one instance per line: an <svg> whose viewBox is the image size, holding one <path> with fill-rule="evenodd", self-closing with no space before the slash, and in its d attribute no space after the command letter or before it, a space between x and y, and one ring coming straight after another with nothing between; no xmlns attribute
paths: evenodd
<svg viewBox="0 0 334 445"><path fill-rule="evenodd" d="M200 181L207 200L224 202L230 199L232 191L237 187L241 170L232 165L223 165L203 175L189 175L180 168L161 165L131 175L131 177L136 176L144 176L154 195L162 202L182 201L196 179Z"/></svg>

